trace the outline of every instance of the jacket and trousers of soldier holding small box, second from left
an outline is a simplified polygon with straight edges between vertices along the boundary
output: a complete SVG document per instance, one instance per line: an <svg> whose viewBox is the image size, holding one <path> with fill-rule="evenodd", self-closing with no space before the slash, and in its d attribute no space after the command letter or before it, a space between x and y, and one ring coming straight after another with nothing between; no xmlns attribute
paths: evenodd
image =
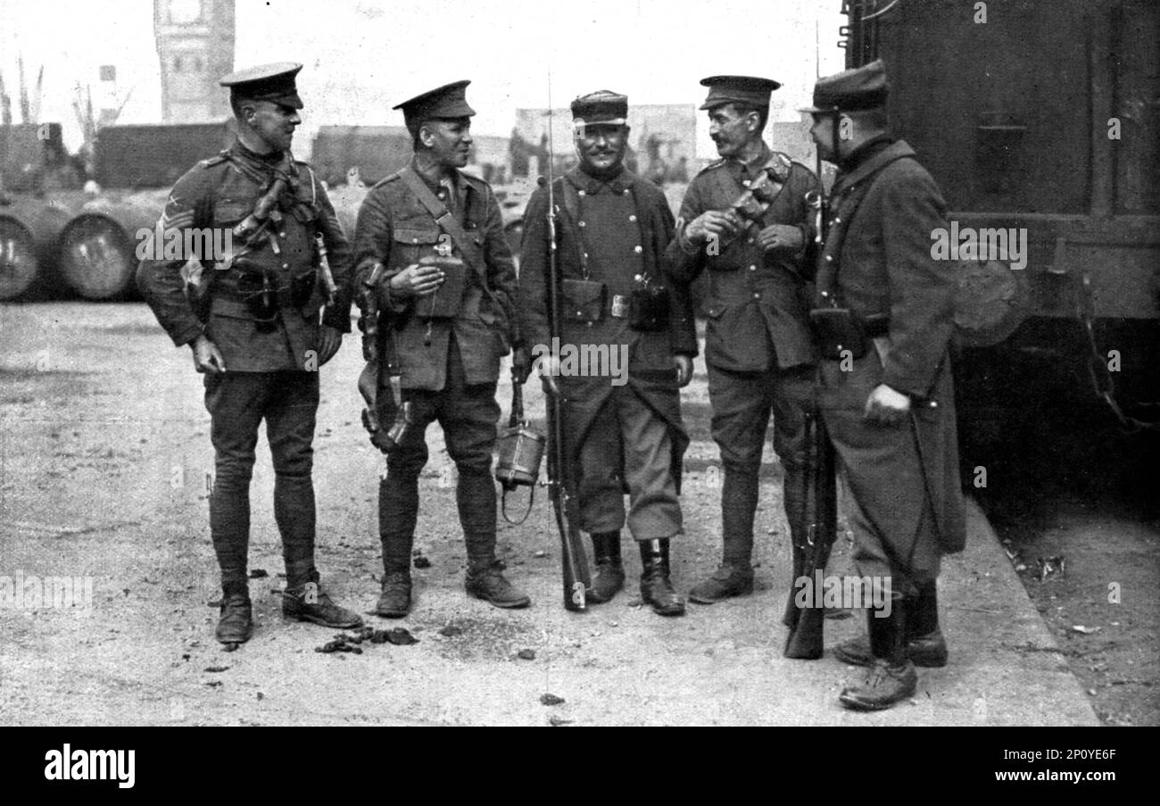
<svg viewBox="0 0 1160 806"><path fill-rule="evenodd" d="M412 161L411 169L415 168ZM488 565L494 559L496 508L491 466L500 416L495 390L500 360L519 343L515 261L491 187L459 170L419 176L479 246L484 266L466 266L467 282L455 317L425 317L429 297L393 298L389 278L421 257L440 254L441 248L458 257L463 257L462 250L400 174L375 186L358 210L356 274L363 281L376 262L386 267L379 285L380 355L398 362L404 398L412 402L415 419L407 438L387 456L387 474L379 485L384 564L400 571L411 562L419 473L428 458L423 434L435 421L443 427L448 453L459 471L456 495L469 560ZM387 335L393 347L385 340ZM379 400L389 400L391 394L386 363L382 362ZM389 424L387 419L384 426Z"/></svg>

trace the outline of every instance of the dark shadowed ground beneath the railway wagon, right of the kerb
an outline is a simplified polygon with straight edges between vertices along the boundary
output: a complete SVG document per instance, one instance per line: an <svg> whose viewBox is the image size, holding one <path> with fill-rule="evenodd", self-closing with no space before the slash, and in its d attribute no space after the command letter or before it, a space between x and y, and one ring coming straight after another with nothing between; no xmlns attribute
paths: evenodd
<svg viewBox="0 0 1160 806"><path fill-rule="evenodd" d="M1034 391L977 499L1103 724L1160 725L1160 434L1125 433L1078 361L1010 360Z"/></svg>

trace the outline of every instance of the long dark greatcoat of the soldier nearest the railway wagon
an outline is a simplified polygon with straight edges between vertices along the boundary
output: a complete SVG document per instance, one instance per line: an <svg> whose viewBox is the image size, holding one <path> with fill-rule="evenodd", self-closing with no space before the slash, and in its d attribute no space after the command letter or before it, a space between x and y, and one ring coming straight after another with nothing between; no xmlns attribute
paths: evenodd
<svg viewBox="0 0 1160 806"><path fill-rule="evenodd" d="M851 212L853 194L861 202ZM893 576L911 595L937 576L942 553L965 543L948 348L956 264L930 256L930 233L947 226L945 203L905 141L878 141L843 166L831 210L817 303L889 317L889 332L851 371L822 362L819 402L853 493L858 573ZM865 422L879 384L911 395L902 423Z"/></svg>

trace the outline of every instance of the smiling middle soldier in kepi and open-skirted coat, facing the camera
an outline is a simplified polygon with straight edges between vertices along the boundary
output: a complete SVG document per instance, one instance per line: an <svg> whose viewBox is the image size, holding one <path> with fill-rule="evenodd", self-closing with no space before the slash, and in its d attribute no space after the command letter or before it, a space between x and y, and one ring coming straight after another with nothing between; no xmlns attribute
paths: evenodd
<svg viewBox="0 0 1160 806"><path fill-rule="evenodd" d="M580 528L592 535L596 565L588 601L608 602L624 586L626 489L629 530L643 565L640 597L662 616L680 616L684 602L669 581L669 539L681 531L677 493L689 442L679 390L693 377L697 340L688 290L668 288L665 271L673 213L655 186L623 165L628 110L628 97L608 90L572 102L580 165L552 188L563 277L560 343L581 355L623 355L621 377L592 366L586 375L561 373L561 356L552 353L558 348L549 343L546 188L532 194L524 213L521 332L548 361L541 364L545 384L564 394L572 465L566 477L577 480Z"/></svg>

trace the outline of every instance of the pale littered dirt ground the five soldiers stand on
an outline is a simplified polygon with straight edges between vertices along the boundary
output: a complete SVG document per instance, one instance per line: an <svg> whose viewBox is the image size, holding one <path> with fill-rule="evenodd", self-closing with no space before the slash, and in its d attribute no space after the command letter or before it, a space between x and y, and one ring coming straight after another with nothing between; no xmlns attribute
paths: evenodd
<svg viewBox="0 0 1160 806"><path fill-rule="evenodd" d="M998 619L993 640L976 634L974 611L993 605L967 591L1002 587L1002 574L977 556L948 564L955 571L948 572L947 629L958 662L926 673L925 696L909 709L857 719L842 712L835 695L855 678L853 669L832 659L803 665L780 656L783 630L775 622L789 583L788 530L775 492L781 470L768 450L754 596L690 605L686 618L662 619L640 605L639 559L626 546L626 590L583 616L567 613L558 538L539 489L527 523L499 530L508 573L534 600L513 612L463 593L454 469L433 427L414 611L399 622L368 618L378 630L405 627L418 642L364 641L360 654L324 654L316 649L335 631L281 617L282 560L262 438L252 489L251 569L266 572L251 583L256 632L237 652L224 652L213 640L219 591L208 527L209 416L189 351L174 349L142 304L3 306L0 344L0 574L94 581L89 608L0 611L5 724L1085 724L1072 695L1060 694L1068 675L1064 668L1060 676L1050 639L1032 644L1018 632L1042 632L1042 624L996 612L981 616ZM368 611L380 573L375 501L382 457L358 423L358 369L353 337L322 368L318 561L335 598ZM698 360L683 397L693 444L683 496L688 533L674 546L681 590L715 567L719 551L719 477L703 369ZM529 411L538 413L534 386ZM505 385L505 413L508 395ZM1083 556L1105 566L1089 579L1074 575L1083 565L1070 565L1074 590L1046 584L1060 596L1066 620L1101 627L1093 636L1060 634L1061 644L1138 645L1134 669L1117 666L1114 652L1085 653L1108 669L1105 685L1093 684L1104 720L1157 724L1155 598L1129 611L1139 583L1151 579L1143 589L1155 589L1154 530L1141 537L1152 540L1151 553L1109 557L1101 530L1110 528L1118 529L1101 521L1088 530L1097 539ZM843 551L840 545L838 562ZM1070 560L1078 564L1079 554ZM1082 597L1095 598L1105 579L1132 591L1123 609L1102 622L1071 610ZM860 620L827 623L827 644L854 634ZM1151 697L1152 710L1112 699L1121 691L1147 692L1134 699ZM1005 704L1013 697L1028 702L1030 717Z"/></svg>

